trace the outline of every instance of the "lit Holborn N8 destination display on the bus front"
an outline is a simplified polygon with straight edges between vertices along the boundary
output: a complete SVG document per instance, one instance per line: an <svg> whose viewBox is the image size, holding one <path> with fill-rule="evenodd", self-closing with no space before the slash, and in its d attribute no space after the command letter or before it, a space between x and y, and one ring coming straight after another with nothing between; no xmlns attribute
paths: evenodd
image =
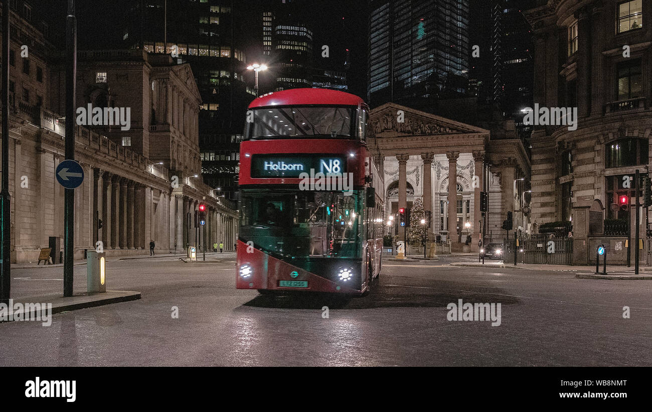
<svg viewBox="0 0 652 412"><path fill-rule="evenodd" d="M301 173L344 173L343 157L328 155L253 155L251 177L299 177Z"/></svg>

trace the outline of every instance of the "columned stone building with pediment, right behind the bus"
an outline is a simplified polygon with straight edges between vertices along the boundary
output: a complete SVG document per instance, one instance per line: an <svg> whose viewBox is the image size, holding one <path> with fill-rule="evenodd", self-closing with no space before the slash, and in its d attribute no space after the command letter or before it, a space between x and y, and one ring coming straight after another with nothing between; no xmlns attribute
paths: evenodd
<svg viewBox="0 0 652 412"><path fill-rule="evenodd" d="M398 122L400 111L404 122ZM372 110L370 128L376 137L371 149L382 160L387 216L421 198L424 210L432 212L429 237L448 235L453 250L461 249L467 233L472 250L477 250L481 231L485 241L502 239L507 211L513 213L514 230L529 228L522 207L529 160L520 140L492 140L489 130L394 103ZM484 219L483 190L489 194ZM394 227L394 234L402 233Z"/></svg>

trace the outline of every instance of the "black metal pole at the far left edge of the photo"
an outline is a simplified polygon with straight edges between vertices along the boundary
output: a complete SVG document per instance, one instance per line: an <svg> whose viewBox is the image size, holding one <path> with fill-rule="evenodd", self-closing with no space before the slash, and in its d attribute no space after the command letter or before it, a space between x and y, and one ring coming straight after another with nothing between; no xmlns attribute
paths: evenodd
<svg viewBox="0 0 652 412"><path fill-rule="evenodd" d="M11 297L11 196L9 195L9 1L2 8L2 243L0 252L0 302Z"/></svg>

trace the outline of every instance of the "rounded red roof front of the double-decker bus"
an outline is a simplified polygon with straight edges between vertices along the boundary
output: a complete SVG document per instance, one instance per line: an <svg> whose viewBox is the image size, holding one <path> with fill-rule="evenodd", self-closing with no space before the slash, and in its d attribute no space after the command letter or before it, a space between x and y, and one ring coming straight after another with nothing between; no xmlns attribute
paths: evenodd
<svg viewBox="0 0 652 412"><path fill-rule="evenodd" d="M269 106L304 106L308 104L324 104L337 106L358 106L364 100L351 93L331 89L288 89L267 93L255 98L250 109Z"/></svg>

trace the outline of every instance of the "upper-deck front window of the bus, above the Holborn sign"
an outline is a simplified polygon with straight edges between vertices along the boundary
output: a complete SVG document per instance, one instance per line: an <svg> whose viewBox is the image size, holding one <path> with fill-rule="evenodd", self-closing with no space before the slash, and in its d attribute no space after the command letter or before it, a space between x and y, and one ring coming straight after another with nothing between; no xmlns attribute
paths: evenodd
<svg viewBox="0 0 652 412"><path fill-rule="evenodd" d="M301 136L355 138L357 108L351 106L284 106L251 110L245 139Z"/></svg>

